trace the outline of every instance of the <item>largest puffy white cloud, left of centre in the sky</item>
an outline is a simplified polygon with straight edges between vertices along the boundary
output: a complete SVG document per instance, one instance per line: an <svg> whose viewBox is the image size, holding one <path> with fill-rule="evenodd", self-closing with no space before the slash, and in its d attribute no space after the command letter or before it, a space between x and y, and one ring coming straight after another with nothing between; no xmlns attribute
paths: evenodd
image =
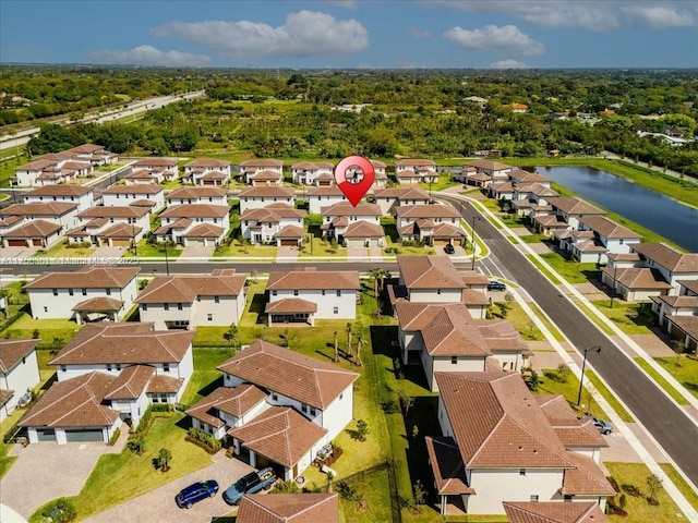
<svg viewBox="0 0 698 523"><path fill-rule="evenodd" d="M155 36L176 36L204 45L230 59L264 57L327 57L350 54L369 47L369 33L356 20L338 21L314 11L290 13L272 27L261 22L170 22L154 27Z"/></svg>

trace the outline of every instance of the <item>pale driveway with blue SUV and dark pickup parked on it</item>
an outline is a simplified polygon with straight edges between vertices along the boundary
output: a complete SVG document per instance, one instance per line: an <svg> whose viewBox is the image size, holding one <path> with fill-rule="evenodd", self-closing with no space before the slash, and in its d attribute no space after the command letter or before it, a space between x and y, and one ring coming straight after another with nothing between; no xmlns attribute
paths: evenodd
<svg viewBox="0 0 698 523"><path fill-rule="evenodd" d="M139 523L164 521L209 523L233 509L222 500L222 491L239 477L254 470L236 458L226 458L222 450L213 459L214 464L206 469L180 477L152 492L112 507L84 521L89 523L132 523L134 521ZM220 490L215 498L204 499L189 510L177 507L174 502L177 492L192 483L206 479L215 479L220 485Z"/></svg>

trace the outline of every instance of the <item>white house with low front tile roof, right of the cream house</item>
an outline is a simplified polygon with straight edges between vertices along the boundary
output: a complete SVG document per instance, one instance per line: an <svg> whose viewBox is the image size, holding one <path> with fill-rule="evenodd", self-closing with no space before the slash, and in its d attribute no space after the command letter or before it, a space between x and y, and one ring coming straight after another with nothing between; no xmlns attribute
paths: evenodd
<svg viewBox="0 0 698 523"><path fill-rule="evenodd" d="M356 270L325 271L306 267L305 270L273 271L266 284L268 303L264 312L269 325L354 319L359 289Z"/></svg>

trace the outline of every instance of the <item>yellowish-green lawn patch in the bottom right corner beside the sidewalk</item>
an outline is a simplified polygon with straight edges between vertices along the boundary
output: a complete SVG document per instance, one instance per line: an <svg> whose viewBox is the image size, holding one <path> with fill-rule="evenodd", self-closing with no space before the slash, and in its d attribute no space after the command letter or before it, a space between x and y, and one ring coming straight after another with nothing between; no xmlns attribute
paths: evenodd
<svg viewBox="0 0 698 523"><path fill-rule="evenodd" d="M669 522L669 521L687 521L686 516L681 514L681 510L676 503L666 494L664 488L659 489L657 499L659 504L653 507L646 500L649 490L647 488L647 477L651 474L650 470L642 463L604 463L613 478L621 486L621 492L615 497L616 503L621 494L625 494L627 516L609 515L612 523L648 523L648 522ZM631 496L623 486L636 487L641 496ZM677 514L681 514L678 516Z"/></svg>

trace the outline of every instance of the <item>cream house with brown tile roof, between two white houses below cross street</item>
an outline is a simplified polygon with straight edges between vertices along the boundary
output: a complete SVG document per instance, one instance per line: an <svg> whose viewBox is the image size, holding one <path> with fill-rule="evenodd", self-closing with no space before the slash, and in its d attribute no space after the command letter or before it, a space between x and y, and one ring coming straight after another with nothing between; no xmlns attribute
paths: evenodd
<svg viewBox="0 0 698 523"><path fill-rule="evenodd" d="M210 275L157 276L135 299L142 321L157 329L237 325L245 304L246 275L216 269Z"/></svg>

